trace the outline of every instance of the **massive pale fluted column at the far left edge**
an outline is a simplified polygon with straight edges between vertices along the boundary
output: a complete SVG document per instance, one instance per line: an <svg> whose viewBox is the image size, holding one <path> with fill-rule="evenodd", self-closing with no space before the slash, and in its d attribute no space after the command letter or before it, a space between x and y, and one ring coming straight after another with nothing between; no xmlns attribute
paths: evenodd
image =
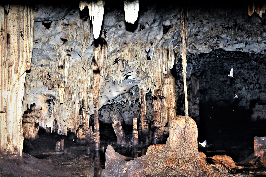
<svg viewBox="0 0 266 177"><path fill-rule="evenodd" d="M1 154L22 156L22 99L31 69L34 8L0 5Z"/></svg>

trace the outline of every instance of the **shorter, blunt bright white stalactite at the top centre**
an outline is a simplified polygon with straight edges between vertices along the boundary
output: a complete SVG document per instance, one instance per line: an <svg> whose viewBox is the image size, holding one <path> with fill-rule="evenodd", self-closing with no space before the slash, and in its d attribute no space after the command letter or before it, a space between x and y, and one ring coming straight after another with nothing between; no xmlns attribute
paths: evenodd
<svg viewBox="0 0 266 177"><path fill-rule="evenodd" d="M134 24L138 18L139 0L125 0L124 1L125 19L126 22Z"/></svg>

